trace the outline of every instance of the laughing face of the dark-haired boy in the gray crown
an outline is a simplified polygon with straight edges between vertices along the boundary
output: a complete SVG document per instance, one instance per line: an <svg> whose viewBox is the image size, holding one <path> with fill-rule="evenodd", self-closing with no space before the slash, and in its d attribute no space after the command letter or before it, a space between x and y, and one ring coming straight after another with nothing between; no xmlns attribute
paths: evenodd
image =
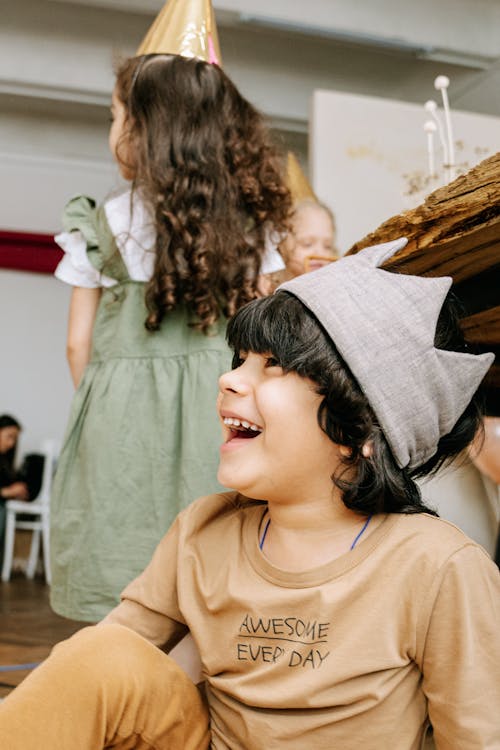
<svg viewBox="0 0 500 750"><path fill-rule="evenodd" d="M318 425L322 396L312 381L285 373L270 357L243 354L240 366L219 380L225 441L219 482L260 500L330 497L339 452Z"/></svg>

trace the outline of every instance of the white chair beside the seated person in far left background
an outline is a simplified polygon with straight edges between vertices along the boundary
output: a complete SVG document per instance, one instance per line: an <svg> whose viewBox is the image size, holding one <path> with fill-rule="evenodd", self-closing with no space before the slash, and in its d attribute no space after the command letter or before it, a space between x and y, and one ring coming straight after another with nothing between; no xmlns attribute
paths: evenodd
<svg viewBox="0 0 500 750"><path fill-rule="evenodd" d="M29 503L23 500L7 500L5 503L5 543L2 566L2 581L10 579L14 558L14 538L16 529L29 529L33 532L31 548L26 566L26 577L34 578L42 538L43 567L45 580L50 584L50 492L55 470L59 443L56 440L44 440L40 453L44 457L42 484L36 499ZM20 515L22 518L17 518ZM33 516L33 519L26 519Z"/></svg>

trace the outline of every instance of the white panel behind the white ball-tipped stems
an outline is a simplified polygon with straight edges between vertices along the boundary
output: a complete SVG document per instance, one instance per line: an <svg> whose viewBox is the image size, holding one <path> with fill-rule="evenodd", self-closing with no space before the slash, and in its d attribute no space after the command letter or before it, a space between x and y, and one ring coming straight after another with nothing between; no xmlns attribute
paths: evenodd
<svg viewBox="0 0 500 750"><path fill-rule="evenodd" d="M428 98L434 98L429 81ZM316 194L337 222L342 252L386 219L423 202L445 180L407 195L411 179L428 174L422 105L378 97L316 91L310 165ZM442 117L442 114L441 114ZM456 162L465 172L500 150L500 117L452 111ZM441 159L438 139L436 161Z"/></svg>

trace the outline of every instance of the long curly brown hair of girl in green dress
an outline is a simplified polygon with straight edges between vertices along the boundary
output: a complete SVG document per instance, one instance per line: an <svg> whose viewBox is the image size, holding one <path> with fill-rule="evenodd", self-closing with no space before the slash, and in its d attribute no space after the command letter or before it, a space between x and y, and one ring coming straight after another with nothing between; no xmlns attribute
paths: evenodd
<svg viewBox="0 0 500 750"><path fill-rule="evenodd" d="M266 232L287 230L282 161L261 115L216 65L131 58L115 93L127 113L118 158L132 162L157 231L146 328L185 304L207 333L257 296Z"/></svg>

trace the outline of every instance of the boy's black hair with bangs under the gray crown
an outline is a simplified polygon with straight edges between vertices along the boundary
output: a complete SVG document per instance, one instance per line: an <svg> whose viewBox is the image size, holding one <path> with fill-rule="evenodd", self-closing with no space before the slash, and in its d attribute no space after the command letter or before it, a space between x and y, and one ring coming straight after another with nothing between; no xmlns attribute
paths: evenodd
<svg viewBox="0 0 500 750"><path fill-rule="evenodd" d="M348 508L362 514L437 515L423 503L414 480L437 471L472 441L481 425L477 394L451 432L441 438L431 459L415 469L401 469L348 366L321 324L296 297L277 292L250 302L229 321L227 340L235 352L233 366L240 352L269 352L285 372L296 372L316 384L317 393L323 396L318 410L321 429L334 443L351 449L351 455L343 459L344 470L332 476ZM441 310L434 345L449 351L466 349L451 295ZM369 458L362 453L367 442L373 446ZM343 478L346 470L350 480Z"/></svg>

